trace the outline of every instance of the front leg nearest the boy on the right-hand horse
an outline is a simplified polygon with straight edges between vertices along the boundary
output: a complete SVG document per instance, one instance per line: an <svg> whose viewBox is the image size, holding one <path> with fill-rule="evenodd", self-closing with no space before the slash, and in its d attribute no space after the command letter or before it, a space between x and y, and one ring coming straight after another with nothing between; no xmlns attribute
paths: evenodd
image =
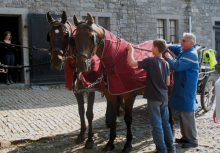
<svg viewBox="0 0 220 153"><path fill-rule="evenodd" d="M126 144L124 145L124 149L122 152L130 152L132 149L132 132L131 132L131 124L132 124L132 109L133 109L133 104L135 100L134 93L128 93L124 97L125 100L125 115L124 115L124 120L127 125L127 141Z"/></svg>

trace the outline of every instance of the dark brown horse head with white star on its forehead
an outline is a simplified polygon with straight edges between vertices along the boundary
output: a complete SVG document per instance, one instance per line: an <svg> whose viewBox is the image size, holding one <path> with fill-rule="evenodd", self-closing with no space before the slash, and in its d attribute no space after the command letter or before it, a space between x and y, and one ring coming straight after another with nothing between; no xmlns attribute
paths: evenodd
<svg viewBox="0 0 220 153"><path fill-rule="evenodd" d="M62 13L61 19L54 19L49 12L46 14L50 31L47 33L47 41L51 48L51 65L59 70L63 69L66 62L66 51L70 51L68 38L72 34L72 27L67 21L67 14Z"/></svg>

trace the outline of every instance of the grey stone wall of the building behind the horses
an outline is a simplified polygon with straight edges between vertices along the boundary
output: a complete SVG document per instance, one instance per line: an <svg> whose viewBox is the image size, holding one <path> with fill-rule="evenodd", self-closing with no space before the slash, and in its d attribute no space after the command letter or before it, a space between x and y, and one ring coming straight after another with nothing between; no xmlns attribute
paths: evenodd
<svg viewBox="0 0 220 153"><path fill-rule="evenodd" d="M220 0L0 0L0 15L21 15L24 46L28 44L28 32L23 28L28 23L27 14L61 14L63 10L71 22L74 14L80 19L87 12L96 18L109 17L111 32L135 44L157 38L157 19L175 19L176 43L191 29L198 44L215 49L213 26L220 22Z"/></svg>

